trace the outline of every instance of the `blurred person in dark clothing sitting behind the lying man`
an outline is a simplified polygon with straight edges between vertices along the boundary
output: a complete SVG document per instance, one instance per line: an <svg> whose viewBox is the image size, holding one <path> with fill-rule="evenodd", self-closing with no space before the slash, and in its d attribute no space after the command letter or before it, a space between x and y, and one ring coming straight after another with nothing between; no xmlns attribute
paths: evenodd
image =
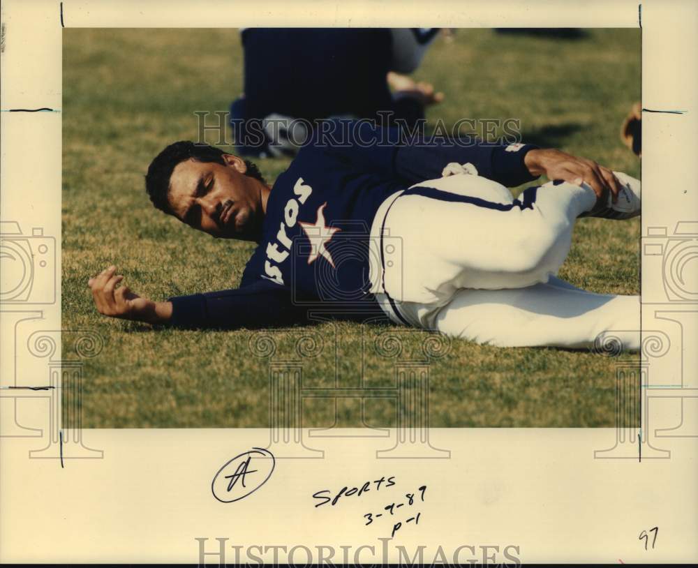
<svg viewBox="0 0 698 568"><path fill-rule="evenodd" d="M246 28L244 93L230 107L243 156L292 155L313 121L376 119L392 112L413 128L443 100L402 75L422 61L438 29ZM294 119L303 119L298 121Z"/></svg>

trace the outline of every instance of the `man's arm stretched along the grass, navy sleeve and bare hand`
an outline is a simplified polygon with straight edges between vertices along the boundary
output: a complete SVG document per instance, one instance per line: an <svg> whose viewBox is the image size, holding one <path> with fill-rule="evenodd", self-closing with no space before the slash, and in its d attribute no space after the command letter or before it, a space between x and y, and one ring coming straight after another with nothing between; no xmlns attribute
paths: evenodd
<svg viewBox="0 0 698 568"><path fill-rule="evenodd" d="M156 302L133 294L110 267L89 287L100 313L110 317L183 328L237 329L308 322L307 306L294 304L290 290L260 281L236 290L172 297Z"/></svg>

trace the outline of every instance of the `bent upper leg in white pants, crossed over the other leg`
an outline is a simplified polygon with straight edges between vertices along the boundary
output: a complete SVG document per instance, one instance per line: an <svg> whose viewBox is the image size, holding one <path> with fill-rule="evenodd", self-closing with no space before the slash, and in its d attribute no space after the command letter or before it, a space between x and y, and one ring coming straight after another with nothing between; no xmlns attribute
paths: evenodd
<svg viewBox="0 0 698 568"><path fill-rule="evenodd" d="M425 181L389 210L402 239L399 266L385 272L395 301L443 305L463 288L500 290L547 282L564 262L577 217L596 196L586 184L528 188L507 203L499 184L470 175Z"/></svg>

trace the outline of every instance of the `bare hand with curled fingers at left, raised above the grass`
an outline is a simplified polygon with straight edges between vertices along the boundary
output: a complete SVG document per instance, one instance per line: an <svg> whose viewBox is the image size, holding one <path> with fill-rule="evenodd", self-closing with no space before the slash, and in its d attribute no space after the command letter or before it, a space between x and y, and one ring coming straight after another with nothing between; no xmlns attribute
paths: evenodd
<svg viewBox="0 0 698 568"><path fill-rule="evenodd" d="M136 320L151 324L165 323L172 317L172 303L152 301L134 294L121 284L124 276L116 274L116 267L109 267L87 282L99 313L124 320Z"/></svg>

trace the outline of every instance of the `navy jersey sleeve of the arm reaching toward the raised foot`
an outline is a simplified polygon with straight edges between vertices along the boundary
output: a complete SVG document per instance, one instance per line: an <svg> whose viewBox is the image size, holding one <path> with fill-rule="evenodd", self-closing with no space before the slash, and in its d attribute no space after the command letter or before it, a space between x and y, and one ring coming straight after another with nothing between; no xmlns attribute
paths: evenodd
<svg viewBox="0 0 698 568"><path fill-rule="evenodd" d="M371 121L355 121L342 128L348 144L327 144L327 152L360 169L394 177L410 186L441 177L443 168L451 162L472 163L482 177L507 187L536 179L523 162L528 151L537 149L533 144L494 144L474 137L410 136L396 127L377 128ZM321 140L319 136L317 140Z"/></svg>

